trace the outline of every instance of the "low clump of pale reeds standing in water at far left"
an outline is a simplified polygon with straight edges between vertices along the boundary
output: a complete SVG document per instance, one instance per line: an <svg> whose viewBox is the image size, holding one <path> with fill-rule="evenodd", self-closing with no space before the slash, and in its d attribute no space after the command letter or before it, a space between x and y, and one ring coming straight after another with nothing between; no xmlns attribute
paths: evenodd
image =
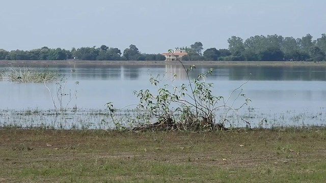
<svg viewBox="0 0 326 183"><path fill-rule="evenodd" d="M52 82L59 76L56 71L31 69L28 67L11 68L7 75L11 82Z"/></svg>

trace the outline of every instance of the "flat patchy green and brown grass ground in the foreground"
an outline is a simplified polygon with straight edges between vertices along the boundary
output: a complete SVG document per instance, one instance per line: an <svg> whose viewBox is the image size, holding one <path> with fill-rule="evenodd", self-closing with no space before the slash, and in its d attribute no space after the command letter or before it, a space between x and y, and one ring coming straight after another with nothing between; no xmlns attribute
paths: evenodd
<svg viewBox="0 0 326 183"><path fill-rule="evenodd" d="M324 182L326 130L0 130L0 182Z"/></svg>

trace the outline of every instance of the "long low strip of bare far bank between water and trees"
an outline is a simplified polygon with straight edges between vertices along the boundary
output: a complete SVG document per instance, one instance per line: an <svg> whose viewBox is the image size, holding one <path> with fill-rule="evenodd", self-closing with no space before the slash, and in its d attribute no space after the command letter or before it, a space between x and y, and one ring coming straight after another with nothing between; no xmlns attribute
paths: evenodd
<svg viewBox="0 0 326 183"><path fill-rule="evenodd" d="M196 66L321 66L326 62L289 62L289 61L182 61L183 65ZM0 60L0 66L35 66L35 65L137 65L165 66L180 65L178 61L137 61L137 60Z"/></svg>

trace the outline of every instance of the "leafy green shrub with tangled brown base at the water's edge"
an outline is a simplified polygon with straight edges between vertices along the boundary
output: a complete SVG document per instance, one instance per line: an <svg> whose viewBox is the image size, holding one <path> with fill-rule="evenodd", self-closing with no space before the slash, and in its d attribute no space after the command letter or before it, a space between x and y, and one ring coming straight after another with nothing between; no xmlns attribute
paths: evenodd
<svg viewBox="0 0 326 183"><path fill-rule="evenodd" d="M151 77L149 81L158 88L156 93L150 92L149 89L141 89L133 93L139 99L139 103L134 104L139 113L135 118L127 119L127 124L132 128L125 128L122 124L125 119L115 115L116 111L125 107L117 109L112 102L106 103L117 129L211 131L226 130L225 123L229 123L231 127L234 125L227 116L232 111L238 116L237 111L251 101L242 94L241 89L249 80L235 88L228 98L216 96L212 94L213 83L206 82L206 78L211 75L213 69L209 69L206 73L199 74L197 78L191 80L189 73L196 66L192 65L186 69L183 63L178 61L186 73L188 83L175 86L176 74L171 84L161 84L158 79ZM237 91L237 96L231 100L231 96ZM244 98L244 101L239 106L234 107L235 101L239 97ZM223 110L224 114L216 122L215 114L220 109ZM247 120L237 119L241 119L250 128L250 123Z"/></svg>

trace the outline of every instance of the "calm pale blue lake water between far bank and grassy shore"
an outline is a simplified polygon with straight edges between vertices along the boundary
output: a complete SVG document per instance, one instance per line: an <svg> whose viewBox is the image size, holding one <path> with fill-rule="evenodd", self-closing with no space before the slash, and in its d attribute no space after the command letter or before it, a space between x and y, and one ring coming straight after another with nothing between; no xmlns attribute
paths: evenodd
<svg viewBox="0 0 326 183"><path fill-rule="evenodd" d="M44 67L38 67L44 68ZM208 81L214 83L213 93L217 96L228 97L232 90L243 82L242 93L252 100L239 113L250 120L251 123L260 123L267 119L268 126L273 125L324 125L326 120L326 68L324 67L197 67L192 78L199 73L214 68L214 73ZM0 70L9 68L0 67ZM49 70L59 71L69 76L71 70L75 72L68 80L66 93L73 90L74 82L78 81L77 96L73 98L68 107L77 106L84 113L73 118L73 123L87 124L90 128L97 128L101 116L90 116L91 110L104 110L105 103L113 102L116 107L137 103L132 95L134 90L157 90L148 81L151 76L158 76L162 84L171 84L174 73L178 75L173 82L176 86L186 83L186 74L182 68L176 66L56 66ZM52 95L56 93L56 84L47 83ZM51 110L53 103L50 94L43 83L12 83L0 81L0 124L19 123L19 121L32 120L18 115L24 110ZM231 99L234 99L235 93ZM63 103L66 103L65 98ZM240 98L235 105L240 105L244 99ZM6 112L4 112L6 111ZM18 112L13 112L18 111ZM88 112L87 112L88 111ZM94 112L96 113L96 112ZM45 114L34 116L46 124ZM19 116L19 117L17 117ZM84 116L84 117L82 117ZM89 116L89 118L85 117ZM33 118L33 116L32 116ZM14 121L14 122L13 122ZM33 121L30 125L35 124ZM71 127L66 124L67 128ZM266 125L266 124L265 124ZM241 125L239 125L241 126Z"/></svg>

